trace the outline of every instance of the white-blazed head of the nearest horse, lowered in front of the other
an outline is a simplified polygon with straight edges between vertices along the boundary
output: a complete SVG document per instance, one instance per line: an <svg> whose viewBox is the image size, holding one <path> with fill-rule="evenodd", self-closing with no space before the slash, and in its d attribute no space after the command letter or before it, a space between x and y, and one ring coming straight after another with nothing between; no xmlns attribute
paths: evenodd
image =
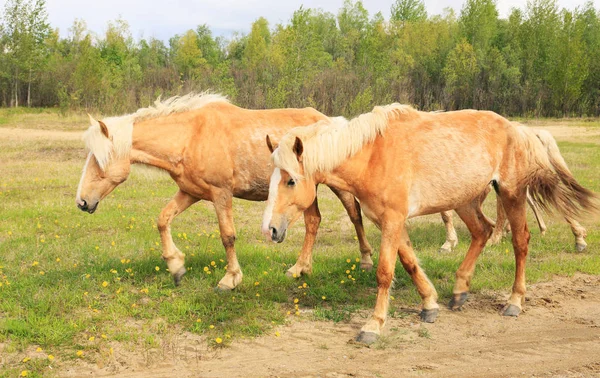
<svg viewBox="0 0 600 378"><path fill-rule="evenodd" d="M271 152L273 144L267 136L267 145ZM286 231L315 201L317 189L312 177L304 176L302 165L303 145L296 137L292 148L299 167L294 172L276 167L269 184L269 199L263 216L262 231L276 243L285 239ZM277 166L277 164L276 164Z"/></svg>

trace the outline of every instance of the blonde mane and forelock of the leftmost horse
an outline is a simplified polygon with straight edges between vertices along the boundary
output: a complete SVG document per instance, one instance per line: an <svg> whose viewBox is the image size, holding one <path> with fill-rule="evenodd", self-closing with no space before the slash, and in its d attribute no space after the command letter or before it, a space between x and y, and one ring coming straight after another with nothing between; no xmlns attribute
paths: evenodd
<svg viewBox="0 0 600 378"><path fill-rule="evenodd" d="M108 128L110 140L102 134L100 124L95 121L83 134L83 141L86 148L96 157L100 168L104 170L113 157L119 158L129 155L134 123L199 109L213 102L228 103L229 100L225 96L209 92L192 92L185 96L174 96L164 101L161 101L159 97L153 106L141 108L133 114L105 118L103 122Z"/></svg>

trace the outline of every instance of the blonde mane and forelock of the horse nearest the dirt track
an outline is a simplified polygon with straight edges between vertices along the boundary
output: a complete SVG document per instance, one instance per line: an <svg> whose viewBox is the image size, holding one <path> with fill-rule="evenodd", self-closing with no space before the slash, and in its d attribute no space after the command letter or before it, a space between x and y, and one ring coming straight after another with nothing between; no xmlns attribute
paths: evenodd
<svg viewBox="0 0 600 378"><path fill-rule="evenodd" d="M335 117L310 126L295 127L282 138L271 159L277 168L285 170L294 179L302 179L300 164L293 151L298 137L304 147L304 175L310 177L315 172L330 172L375 140L377 135L383 134L390 119L408 112L415 110L408 105L391 104L376 106L372 112L350 121Z"/></svg>

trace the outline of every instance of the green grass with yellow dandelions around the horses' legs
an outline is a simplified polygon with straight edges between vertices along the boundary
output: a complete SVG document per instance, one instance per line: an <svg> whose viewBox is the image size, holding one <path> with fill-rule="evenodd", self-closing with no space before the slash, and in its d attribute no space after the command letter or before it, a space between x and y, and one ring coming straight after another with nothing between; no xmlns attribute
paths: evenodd
<svg viewBox="0 0 600 378"><path fill-rule="evenodd" d="M36 117L42 120L40 128L56 122L61 130L81 129L75 126L80 116L63 120L54 111L42 110L3 110L0 127L31 128ZM597 141L560 147L580 182L600 191ZM284 244L266 243L259 230L264 204L236 200L236 249L244 281L231 293L217 293L213 288L224 274L225 256L212 205L199 203L173 224L188 267L182 285L175 288L160 259L156 230L157 216L176 192L175 184L167 176L134 169L89 215L74 203L84 160L78 141L0 139L0 377L25 370L28 376L48 374L50 367L60 371L77 360L107 363L124 345L140 351L165 349L183 332L198 335L210 347L223 347L306 317L305 312L311 319L345 322L372 309L375 273L358 268L352 224L327 188L319 189L323 221L314 273L295 281L285 271L301 248L303 227L289 230ZM493 209L492 195L486 212L491 215ZM564 222L546 220L549 230L543 238L530 222L528 282L555 274L600 274L598 220L584 222L589 234L585 253L573 252L573 237ZM441 255L437 250L445 235L439 216L409 223L415 250L441 303L451 295L454 272L468 247L466 228L456 224L456 252ZM368 222L366 229L378 250L379 232ZM377 255L374 260L377 264ZM480 257L472 291L508 293L513 277L512 247L505 239ZM400 264L392 295L391 316L409 316L396 310L416 308L420 302ZM427 329L422 332L421 337L428 337Z"/></svg>

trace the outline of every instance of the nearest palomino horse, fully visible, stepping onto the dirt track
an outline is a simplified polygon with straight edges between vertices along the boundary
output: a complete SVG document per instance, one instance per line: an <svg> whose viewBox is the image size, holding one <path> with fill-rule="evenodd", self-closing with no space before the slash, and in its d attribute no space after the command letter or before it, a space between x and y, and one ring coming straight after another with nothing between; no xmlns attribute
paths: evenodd
<svg viewBox="0 0 600 378"><path fill-rule="evenodd" d="M324 183L352 193L381 229L377 300L358 341L375 341L385 323L396 254L422 298L421 318L433 322L437 293L417 261L405 228L408 218L456 209L471 232L471 245L456 273L453 309L465 302L475 262L492 234L480 197L492 183L512 227L516 260L506 316L521 312L528 252L527 188L544 209L563 215L595 210L583 188L539 139L493 112L424 113L405 105L375 107L351 121L335 118L294 128L272 153L269 200L263 232L281 242L288 227Z"/></svg>

